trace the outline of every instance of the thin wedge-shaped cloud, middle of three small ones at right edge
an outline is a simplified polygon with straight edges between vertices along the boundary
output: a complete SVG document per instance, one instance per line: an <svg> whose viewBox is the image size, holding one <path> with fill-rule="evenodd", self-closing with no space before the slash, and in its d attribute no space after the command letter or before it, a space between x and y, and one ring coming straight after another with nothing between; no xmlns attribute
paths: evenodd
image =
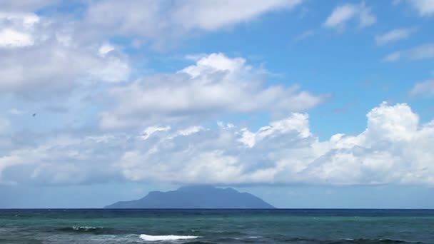
<svg viewBox="0 0 434 244"><path fill-rule="evenodd" d="M412 49L404 51L395 51L383 58L383 61L399 61L400 59L420 60L434 58L434 44L428 43L420 46L415 46Z"/></svg>

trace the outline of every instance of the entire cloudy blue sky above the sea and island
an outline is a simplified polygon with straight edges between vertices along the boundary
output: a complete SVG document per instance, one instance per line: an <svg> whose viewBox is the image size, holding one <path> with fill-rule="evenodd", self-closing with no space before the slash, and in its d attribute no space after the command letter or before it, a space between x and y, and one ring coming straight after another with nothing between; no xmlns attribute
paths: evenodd
<svg viewBox="0 0 434 244"><path fill-rule="evenodd" d="M434 1L0 9L1 208L196 183L282 208L434 207Z"/></svg>

